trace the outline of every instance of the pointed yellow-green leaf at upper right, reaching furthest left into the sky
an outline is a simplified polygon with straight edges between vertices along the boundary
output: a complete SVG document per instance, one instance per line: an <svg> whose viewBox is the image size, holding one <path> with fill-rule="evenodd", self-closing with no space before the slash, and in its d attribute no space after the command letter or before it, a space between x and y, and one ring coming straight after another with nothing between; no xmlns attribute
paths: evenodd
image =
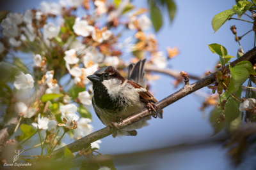
<svg viewBox="0 0 256 170"><path fill-rule="evenodd" d="M214 30L214 33L220 29L220 27L234 15L234 11L231 10L226 10L222 11L221 13L218 13L212 18L212 29Z"/></svg>

